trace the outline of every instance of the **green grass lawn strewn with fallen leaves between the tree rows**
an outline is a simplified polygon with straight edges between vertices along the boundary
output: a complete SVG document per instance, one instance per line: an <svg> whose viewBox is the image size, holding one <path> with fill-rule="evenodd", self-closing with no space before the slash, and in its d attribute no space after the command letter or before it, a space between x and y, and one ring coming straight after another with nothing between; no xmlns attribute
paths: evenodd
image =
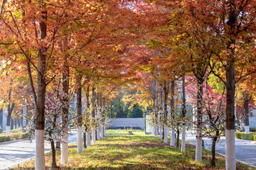
<svg viewBox="0 0 256 170"><path fill-rule="evenodd" d="M128 135L128 131L108 130L106 137L84 149L82 154L77 154L77 143L69 145L69 164L60 164L60 152L57 152L57 164L60 169L212 169L208 166L211 154L205 149L203 162L194 162L193 145L187 144L186 152L180 152L180 148L169 147L141 130L133 130L134 135ZM225 169L225 158L216 159L216 169ZM45 161L50 169L50 153ZM34 159L19 168L34 169ZM237 169L254 168L237 163Z"/></svg>

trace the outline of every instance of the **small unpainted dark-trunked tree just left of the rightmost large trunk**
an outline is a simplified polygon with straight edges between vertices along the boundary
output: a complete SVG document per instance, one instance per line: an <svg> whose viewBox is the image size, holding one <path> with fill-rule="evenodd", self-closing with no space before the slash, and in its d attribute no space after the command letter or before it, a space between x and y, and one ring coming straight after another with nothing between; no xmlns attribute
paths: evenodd
<svg viewBox="0 0 256 170"><path fill-rule="evenodd" d="M191 122L196 125L196 128L200 128L202 131L201 137L208 137L212 139L211 145L211 166L216 166L216 142L217 140L225 134L225 96L223 96L225 92L225 88L223 89L222 94L215 93L211 86L208 85L207 81L208 77L206 77L206 82L203 84L203 96L202 96L202 121L201 124L198 125L197 121ZM194 91L195 83L193 81L187 88L187 92L189 94L189 101L192 105L196 106L197 103L197 94ZM195 116L196 117L196 116ZM187 119L188 120L188 119Z"/></svg>

